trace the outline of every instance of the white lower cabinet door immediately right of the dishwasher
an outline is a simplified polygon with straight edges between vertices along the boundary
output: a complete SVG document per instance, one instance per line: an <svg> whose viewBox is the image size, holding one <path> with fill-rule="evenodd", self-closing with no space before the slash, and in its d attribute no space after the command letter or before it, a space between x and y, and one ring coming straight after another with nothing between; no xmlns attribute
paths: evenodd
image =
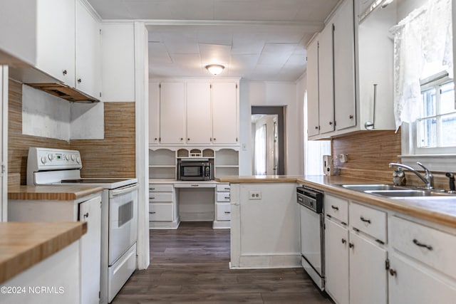
<svg viewBox="0 0 456 304"><path fill-rule="evenodd" d="M339 304L348 304L348 230L325 219L325 289Z"/></svg>

